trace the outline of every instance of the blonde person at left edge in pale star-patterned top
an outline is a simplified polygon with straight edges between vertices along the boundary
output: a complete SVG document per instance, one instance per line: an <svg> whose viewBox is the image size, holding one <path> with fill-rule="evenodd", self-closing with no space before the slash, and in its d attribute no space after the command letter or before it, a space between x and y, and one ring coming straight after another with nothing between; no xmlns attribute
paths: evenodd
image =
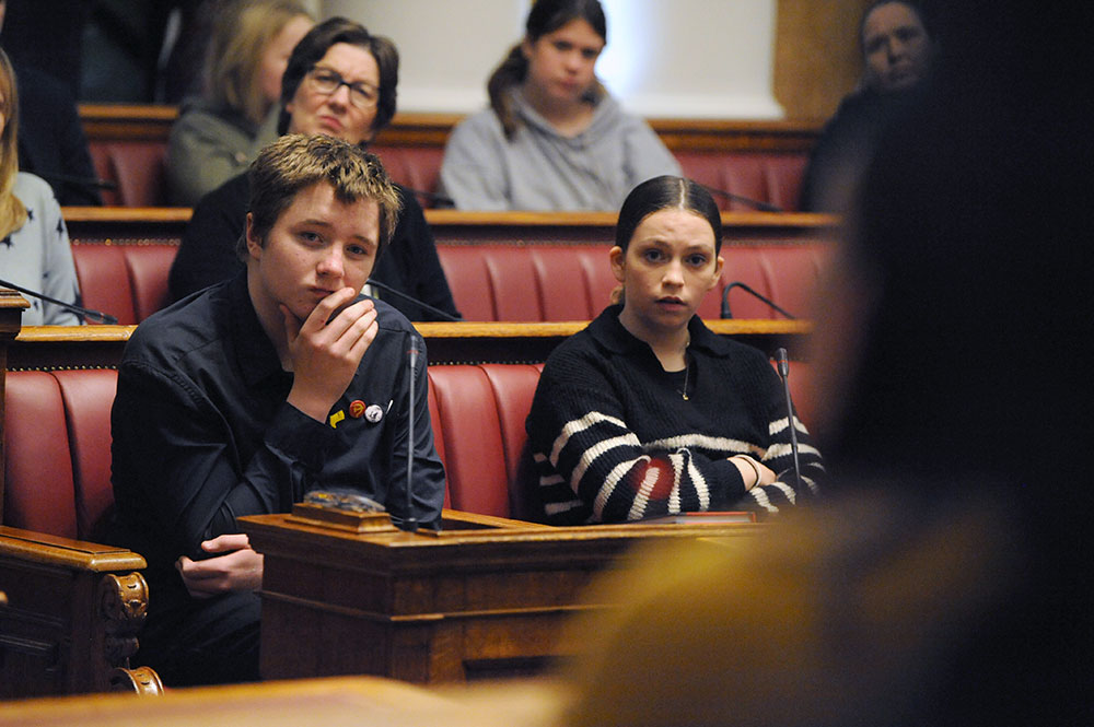
<svg viewBox="0 0 1094 727"><path fill-rule="evenodd" d="M72 249L49 185L19 171L19 91L0 50L0 279L66 303L80 303ZM79 316L30 297L24 326L77 326Z"/></svg>

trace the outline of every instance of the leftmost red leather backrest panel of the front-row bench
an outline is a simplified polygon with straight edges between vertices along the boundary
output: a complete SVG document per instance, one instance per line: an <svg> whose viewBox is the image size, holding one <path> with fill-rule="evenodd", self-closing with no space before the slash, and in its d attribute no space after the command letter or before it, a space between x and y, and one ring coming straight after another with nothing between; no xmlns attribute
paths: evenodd
<svg viewBox="0 0 1094 727"><path fill-rule="evenodd" d="M3 437L3 524L79 537L65 404L54 376L8 372Z"/></svg>

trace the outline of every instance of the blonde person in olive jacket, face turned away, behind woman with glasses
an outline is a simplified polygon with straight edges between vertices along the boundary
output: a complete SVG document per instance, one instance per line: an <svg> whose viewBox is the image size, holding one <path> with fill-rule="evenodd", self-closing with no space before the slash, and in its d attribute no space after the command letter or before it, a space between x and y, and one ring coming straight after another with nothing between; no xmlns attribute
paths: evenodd
<svg viewBox="0 0 1094 727"><path fill-rule="evenodd" d="M167 145L167 196L190 207L278 138L281 75L314 21L296 0L232 0L220 12L205 95L184 103Z"/></svg>

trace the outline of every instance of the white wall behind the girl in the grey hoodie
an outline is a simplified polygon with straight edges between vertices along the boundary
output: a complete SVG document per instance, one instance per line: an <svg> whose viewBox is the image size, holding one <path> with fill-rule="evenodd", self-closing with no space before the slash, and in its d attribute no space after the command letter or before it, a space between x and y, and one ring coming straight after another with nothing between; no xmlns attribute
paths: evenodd
<svg viewBox="0 0 1094 727"><path fill-rule="evenodd" d="M468 113L516 43L528 0L317 0L391 37L399 109ZM601 0L608 45L597 73L645 117L782 117L771 93L776 0Z"/></svg>

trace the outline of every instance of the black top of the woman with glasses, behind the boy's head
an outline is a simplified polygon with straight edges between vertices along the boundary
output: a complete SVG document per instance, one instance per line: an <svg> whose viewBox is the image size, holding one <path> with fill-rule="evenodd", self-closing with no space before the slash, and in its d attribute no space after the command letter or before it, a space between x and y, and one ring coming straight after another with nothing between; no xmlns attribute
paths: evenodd
<svg viewBox="0 0 1094 727"><path fill-rule="evenodd" d="M459 316L441 269L433 233L414 194L396 185L403 212L391 244L376 260L372 277L452 316ZM179 300L207 285L219 283L243 269L235 244L246 230L251 206L251 180L246 173L229 179L201 198L194 208L178 255L171 266L168 285ZM410 320L443 319L421 306L380 291L383 297Z"/></svg>

